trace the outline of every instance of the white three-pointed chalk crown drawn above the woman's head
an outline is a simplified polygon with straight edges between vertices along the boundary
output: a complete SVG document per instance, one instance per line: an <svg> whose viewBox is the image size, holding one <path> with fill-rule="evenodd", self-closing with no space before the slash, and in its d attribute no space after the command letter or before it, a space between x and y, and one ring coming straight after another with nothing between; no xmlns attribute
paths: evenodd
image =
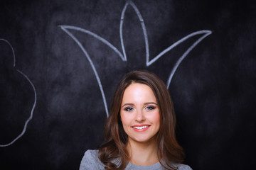
<svg viewBox="0 0 256 170"><path fill-rule="evenodd" d="M181 38L180 40L174 42L173 45L170 45L165 50L160 52L159 55L156 55L156 57L154 57L152 60L149 61L149 41L148 41L148 36L147 36L147 33L146 33L146 26L145 26L145 23L144 23L144 20L142 18L141 13L139 12L139 9L130 0L127 1L126 4L124 5L124 8L122 9L121 18L120 18L119 36L120 36L120 42L121 42L121 46L122 46L122 53L119 52L119 50L117 50L117 47L114 47L114 45L112 45L110 42L108 42L104 38L100 37L100 35L92 33L90 30L86 30L86 29L83 29L83 28L75 27L75 26L60 26L60 28L65 31L65 33L67 33L71 38L73 38L73 40L75 40L75 42L81 48L82 52L87 57L87 60L90 62L92 70L93 70L93 72L95 74L95 77L97 79L97 84L100 87L100 92L102 94L102 100L104 102L105 111L106 111L107 116L108 116L107 101L106 101L106 98L105 98L104 90L102 88L100 77L97 74L97 69L95 69L95 65L93 64L93 62L92 62L92 60L90 58L90 55L88 55L87 51L85 50L85 47L82 46L81 42L77 38L75 38L75 36L72 33L70 33L69 30L78 30L78 31L80 31L82 33L86 33L88 35L91 35L92 37L96 38L97 40L100 40L101 42L105 43L105 45L107 45L112 50L114 50L114 52L116 52L117 55L119 55L119 57L122 59L123 62L127 62L127 55L126 55L125 47L124 47L124 39L123 39L122 28L123 28L123 23L124 23L125 12L126 12L128 6L132 6L132 8L134 9L135 13L137 14L137 16L139 18L139 21L141 23L141 26L142 26L142 31L143 31L143 35L144 35L144 42L145 42L145 48L146 48L146 67L149 67L151 64L154 64L154 62L159 60L160 57L165 55L170 50L174 49L174 47L176 47L177 45L181 44L182 42L188 40L189 38L192 38L193 36L201 35L201 37L198 38L196 40L196 42L193 42L193 44L190 47L188 47L188 49L183 53L183 55L181 55L181 57L178 58L178 61L174 65L174 68L171 70L171 73L169 74L169 79L168 79L168 81L166 83L166 86L167 86L168 89L169 89L169 85L171 84L171 79L174 77L174 74L176 72L176 69L181 64L181 62L184 60L184 58L188 55L189 52L191 52L191 50L193 50L194 47L196 47L196 45L198 45L199 42L201 42L204 38L206 38L208 35L210 35L212 33L212 31L210 31L210 30L198 30L198 31L196 31L194 33L186 35L184 38Z"/></svg>

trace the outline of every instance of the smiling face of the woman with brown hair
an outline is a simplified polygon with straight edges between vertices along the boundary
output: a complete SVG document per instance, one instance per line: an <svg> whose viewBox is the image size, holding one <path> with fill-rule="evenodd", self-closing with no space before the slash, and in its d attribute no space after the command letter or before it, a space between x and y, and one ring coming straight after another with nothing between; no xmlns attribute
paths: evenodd
<svg viewBox="0 0 256 170"><path fill-rule="evenodd" d="M129 142L154 140L160 128L160 113L154 92L149 86L130 84L124 91L120 115Z"/></svg>

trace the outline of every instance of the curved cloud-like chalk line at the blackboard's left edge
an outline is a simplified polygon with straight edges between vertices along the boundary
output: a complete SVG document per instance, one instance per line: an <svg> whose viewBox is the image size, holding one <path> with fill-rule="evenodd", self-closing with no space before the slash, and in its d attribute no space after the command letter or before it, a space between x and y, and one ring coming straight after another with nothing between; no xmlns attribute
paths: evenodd
<svg viewBox="0 0 256 170"><path fill-rule="evenodd" d="M16 60L15 60L14 48L11 46L11 43L10 43L8 40L5 40L5 39L0 39L0 40L6 42L6 43L11 47L11 50L12 50L13 55L14 55L14 68L15 68L15 62L16 62ZM36 107L36 89L35 89L35 86L34 86L33 83L31 82L31 80L28 79L28 77L26 76L26 74L23 74L23 72L21 72L21 70L16 69L16 71L17 71L18 73L20 73L23 77L25 77L26 80L29 82L29 84L31 84L31 86L32 86L32 88L33 88L33 92L34 92L35 98L34 98L33 107L32 107L32 109L31 109L30 116L29 116L28 120L26 120L22 132L21 132L17 137L15 137L14 140L12 140L11 142L9 142L9 143L7 143L7 144L0 145L0 147L8 147L8 146L14 144L14 142L16 142L16 140L18 140L19 138L21 138L21 137L25 134L26 128L27 128L27 126L28 126L28 123L29 123L29 121L32 120L32 118L33 118L33 111L34 111L34 109L35 109L35 107Z"/></svg>

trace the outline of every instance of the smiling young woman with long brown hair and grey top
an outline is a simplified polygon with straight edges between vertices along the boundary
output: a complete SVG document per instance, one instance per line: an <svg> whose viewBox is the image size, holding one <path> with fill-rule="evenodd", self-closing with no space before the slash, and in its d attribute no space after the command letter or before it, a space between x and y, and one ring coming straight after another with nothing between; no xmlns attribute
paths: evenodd
<svg viewBox="0 0 256 170"><path fill-rule="evenodd" d="M181 164L185 155L175 127L174 106L164 82L151 72L130 72L114 93L103 144L85 152L80 170L191 170Z"/></svg>

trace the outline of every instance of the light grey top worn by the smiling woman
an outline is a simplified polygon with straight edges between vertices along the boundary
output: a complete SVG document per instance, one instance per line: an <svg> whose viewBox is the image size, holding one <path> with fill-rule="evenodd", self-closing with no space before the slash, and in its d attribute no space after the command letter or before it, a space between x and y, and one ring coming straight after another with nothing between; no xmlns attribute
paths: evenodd
<svg viewBox="0 0 256 170"><path fill-rule="evenodd" d="M192 170L190 166L185 164L173 164L178 170ZM80 164L80 170L104 170L104 164L98 158L98 150L87 150ZM159 162L150 166L139 166L129 162L125 170L165 170Z"/></svg>

